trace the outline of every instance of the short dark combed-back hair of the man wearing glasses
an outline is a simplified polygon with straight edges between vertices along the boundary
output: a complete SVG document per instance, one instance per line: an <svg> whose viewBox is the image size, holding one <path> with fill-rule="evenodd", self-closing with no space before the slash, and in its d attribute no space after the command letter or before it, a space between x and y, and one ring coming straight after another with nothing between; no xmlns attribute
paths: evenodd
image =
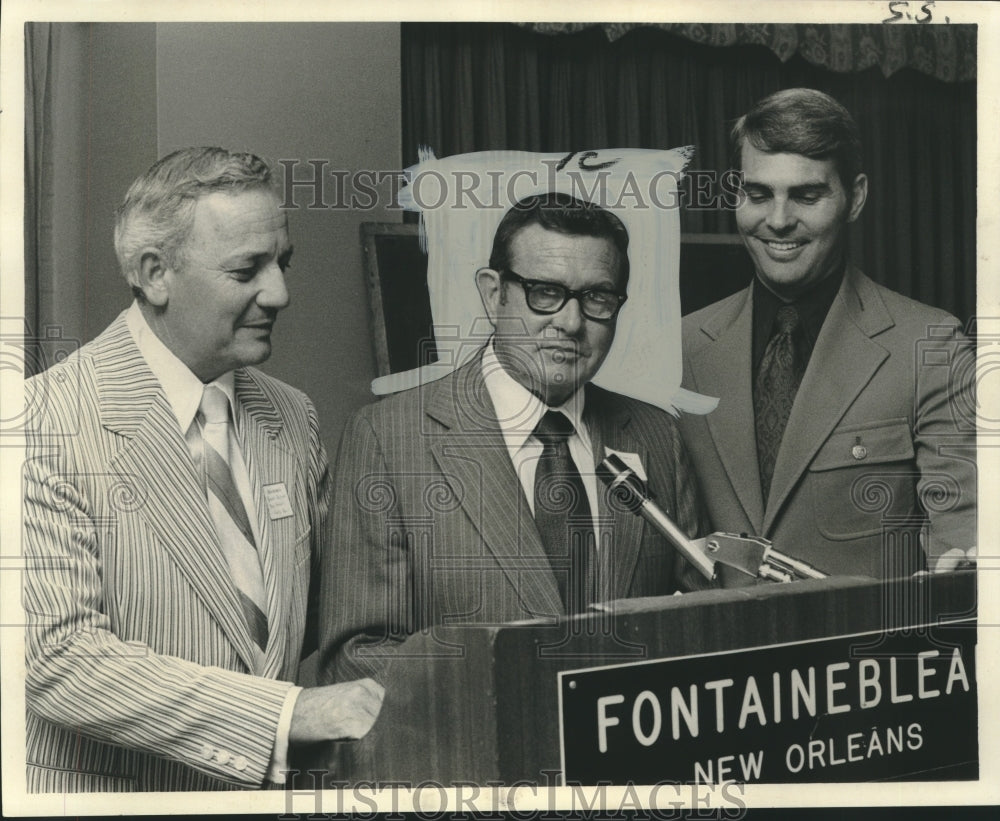
<svg viewBox="0 0 1000 821"><path fill-rule="evenodd" d="M610 240L618 249L621 286L624 288L628 283L628 231L622 221L607 209L569 194L533 194L514 203L493 236L490 268L501 272L510 270L511 242L518 231L529 225L540 225L560 234ZM531 276L530 271L523 273Z"/></svg>

